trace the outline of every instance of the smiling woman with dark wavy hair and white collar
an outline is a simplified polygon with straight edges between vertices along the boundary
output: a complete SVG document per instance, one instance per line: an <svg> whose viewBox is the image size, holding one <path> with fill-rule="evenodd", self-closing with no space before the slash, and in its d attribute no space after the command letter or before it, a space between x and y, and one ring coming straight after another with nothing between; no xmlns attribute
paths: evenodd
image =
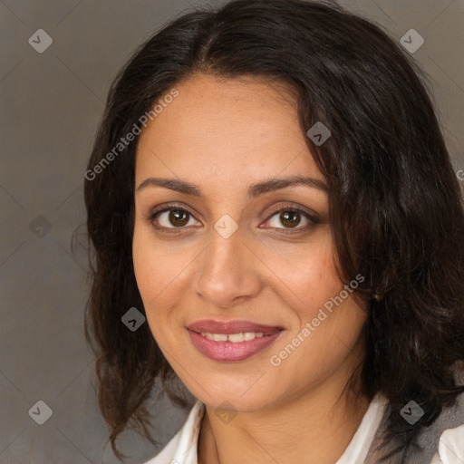
<svg viewBox="0 0 464 464"><path fill-rule="evenodd" d="M118 457L179 379L150 464L464 459L464 214L419 75L300 0L184 14L121 70L85 173Z"/></svg>

